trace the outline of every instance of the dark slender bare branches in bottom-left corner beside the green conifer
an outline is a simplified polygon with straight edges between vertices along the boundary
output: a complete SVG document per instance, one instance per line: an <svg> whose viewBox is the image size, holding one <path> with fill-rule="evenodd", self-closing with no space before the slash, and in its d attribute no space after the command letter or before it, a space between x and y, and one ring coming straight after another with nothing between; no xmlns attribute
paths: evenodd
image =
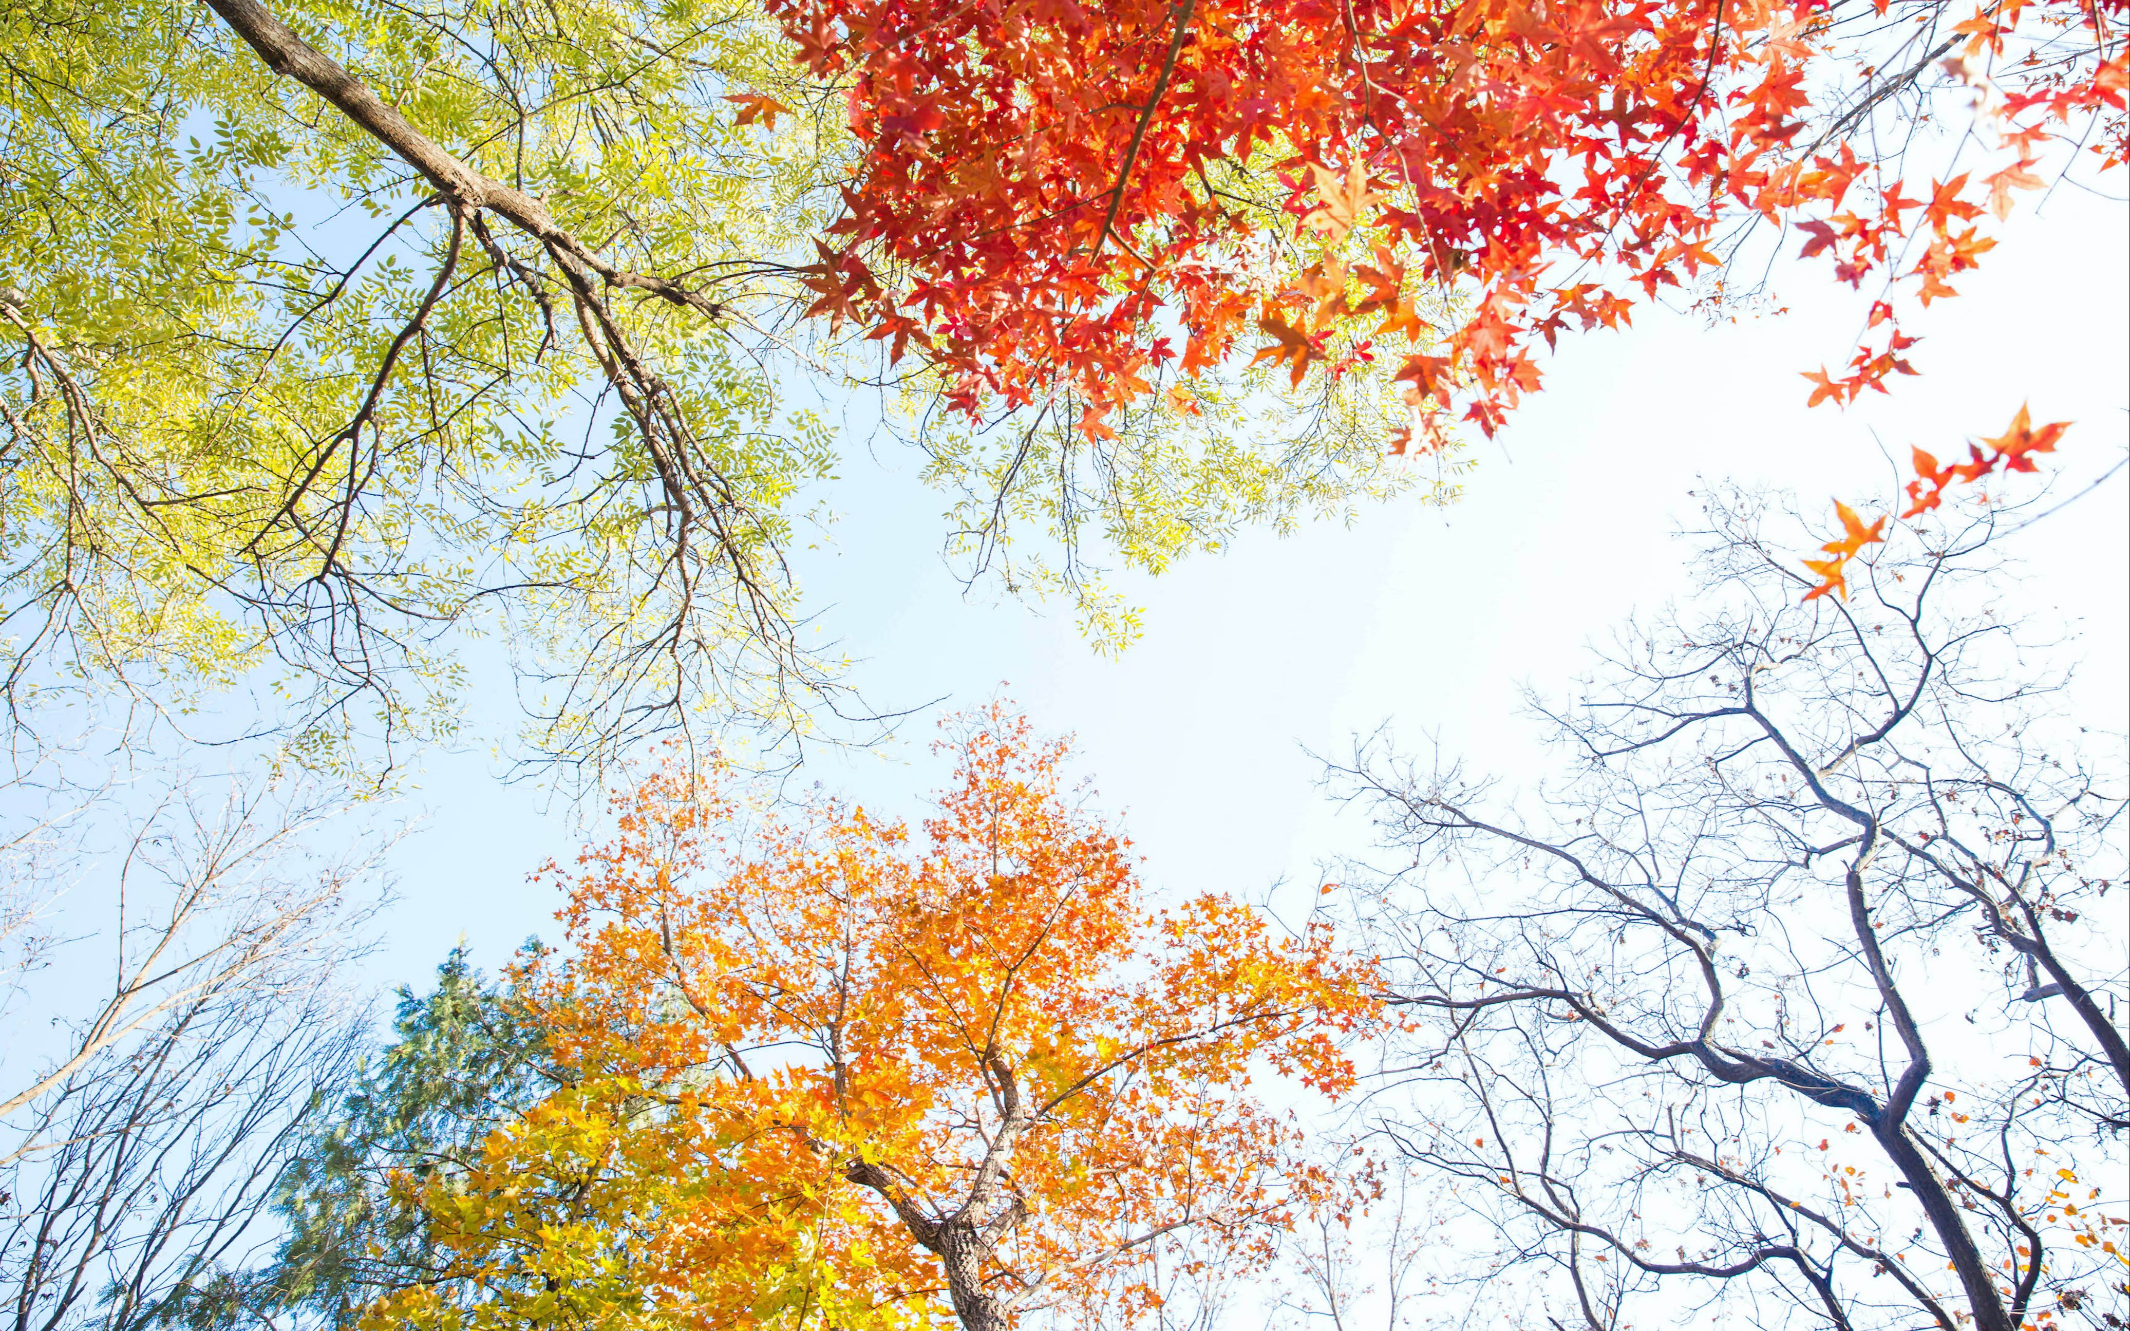
<svg viewBox="0 0 2130 1331"><path fill-rule="evenodd" d="M234 1325L258 1293L247 1276L275 1184L358 1035L332 986L204 992L15 1114L0 1163L9 1325Z"/></svg>

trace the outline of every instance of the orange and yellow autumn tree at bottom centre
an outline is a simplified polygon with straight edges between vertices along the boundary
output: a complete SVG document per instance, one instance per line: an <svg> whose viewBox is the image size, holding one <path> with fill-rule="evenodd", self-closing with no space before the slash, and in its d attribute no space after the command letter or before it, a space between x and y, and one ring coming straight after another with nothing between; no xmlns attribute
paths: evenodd
<svg viewBox="0 0 2130 1331"><path fill-rule="evenodd" d="M447 1186L454 1286L375 1325L999 1331L1133 1320L1189 1231L1248 1269L1333 1180L1257 1092L1348 1084L1365 1018L1318 929L1154 911L1127 843L1001 707L922 828L835 801L746 826L718 773L620 803L528 980L569 1086Z"/></svg>

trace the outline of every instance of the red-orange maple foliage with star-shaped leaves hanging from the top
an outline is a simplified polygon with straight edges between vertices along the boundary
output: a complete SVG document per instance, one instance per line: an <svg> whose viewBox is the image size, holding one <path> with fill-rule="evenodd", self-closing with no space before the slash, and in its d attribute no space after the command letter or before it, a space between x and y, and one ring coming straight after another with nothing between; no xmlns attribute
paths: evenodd
<svg viewBox="0 0 2130 1331"><path fill-rule="evenodd" d="M1762 221L1883 285L1847 371L1808 375L1853 400L1915 373L1898 315L1996 245L1985 211L2126 158L2119 0L771 11L865 147L816 309L907 341L967 413L1074 405L1088 439L1244 358L1397 360L1393 449L1491 434L1538 341L1664 287L1749 298Z"/></svg>

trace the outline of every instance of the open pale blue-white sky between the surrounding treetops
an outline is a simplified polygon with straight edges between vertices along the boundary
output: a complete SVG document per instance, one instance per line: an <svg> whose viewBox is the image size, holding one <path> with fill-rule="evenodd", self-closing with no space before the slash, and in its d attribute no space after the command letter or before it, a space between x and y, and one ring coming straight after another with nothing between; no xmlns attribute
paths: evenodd
<svg viewBox="0 0 2130 1331"><path fill-rule="evenodd" d="M797 566L852 684L882 711L918 711L888 743L812 750L803 775L920 816L944 771L927 752L935 720L1003 692L1076 737L1080 773L1161 890L1306 892L1323 860L1367 845L1316 788L1312 754L1389 724L1510 782L1542 775L1519 690L1566 686L1615 624L1687 590L1674 532L1691 492L1787 488L1832 528L1834 498L1885 509L1911 445L1962 451L2021 402L2075 422L2049 483L2077 498L2013 539L2030 575L2009 594L2072 622L2072 705L2130 728L2130 475L2087 490L2130 449L2130 209L2062 187L2017 213L1960 287L1908 328L1926 339L1921 377L1847 411L1806 409L1800 373L1847 358L1870 292L1823 270L1776 273L1791 305L1779 317L1708 328L1642 309L1627 332L1563 339L1544 392L1470 445L1457 505L1389 503L1353 526L1255 532L1159 579L1125 575L1146 635L1118 658L1095 656L1067 607L967 590L939 558L946 498L914 454L882 445L841 469L843 517ZM1798 530L1800 558L1828 535ZM488 735L513 724L494 703L473 720ZM526 935L556 935L556 901L526 875L571 856L584 828L501 771L479 743L432 754L394 809L415 831L392 858L379 984L420 984L460 939L494 967Z"/></svg>

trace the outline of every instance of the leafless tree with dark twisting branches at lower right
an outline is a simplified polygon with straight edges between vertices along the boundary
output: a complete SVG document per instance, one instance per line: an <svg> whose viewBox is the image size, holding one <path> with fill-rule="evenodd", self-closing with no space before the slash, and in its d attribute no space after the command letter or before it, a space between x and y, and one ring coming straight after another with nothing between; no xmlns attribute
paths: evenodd
<svg viewBox="0 0 2130 1331"><path fill-rule="evenodd" d="M1768 515L1710 498L1691 611L1540 707L1538 799L1340 773L1406 860L1350 880L1416 1018L1380 1133L1491 1229L1480 1297L1591 1329L2121 1325L2119 737L2051 713L2009 511L1804 603Z"/></svg>

